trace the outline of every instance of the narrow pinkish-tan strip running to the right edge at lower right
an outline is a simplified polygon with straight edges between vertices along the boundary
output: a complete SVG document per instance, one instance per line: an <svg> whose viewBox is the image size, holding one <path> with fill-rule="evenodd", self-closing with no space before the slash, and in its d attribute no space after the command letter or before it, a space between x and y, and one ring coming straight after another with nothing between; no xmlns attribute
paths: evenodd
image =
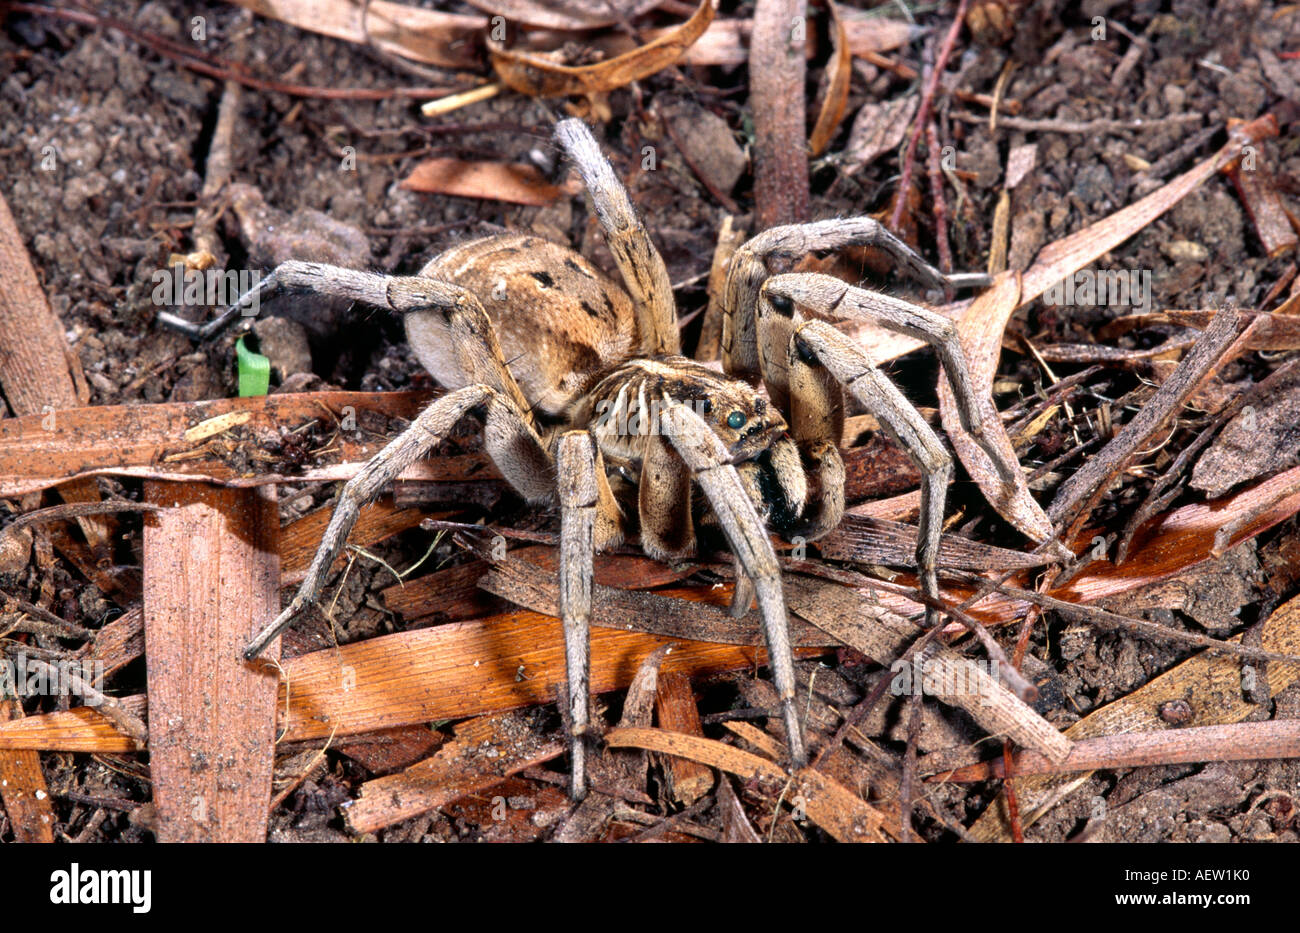
<svg viewBox="0 0 1300 933"><path fill-rule="evenodd" d="M1032 751L1017 752L1013 769L1017 776L1062 774L1071 771L1254 761L1269 758L1300 758L1300 720L1235 722L1088 738L1075 742L1070 755L1058 763L1048 761ZM998 758L939 772L927 780L988 781L1005 776L1005 760Z"/></svg>

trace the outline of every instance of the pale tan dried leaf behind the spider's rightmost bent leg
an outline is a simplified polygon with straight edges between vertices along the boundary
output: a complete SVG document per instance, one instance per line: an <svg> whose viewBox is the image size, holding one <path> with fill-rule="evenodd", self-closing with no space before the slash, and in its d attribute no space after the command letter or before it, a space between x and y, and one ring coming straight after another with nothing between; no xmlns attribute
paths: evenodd
<svg viewBox="0 0 1300 933"><path fill-rule="evenodd" d="M971 386L975 389L975 402L984 418L984 434L996 444L1008 463L1018 463L1011 439L1006 437L1002 420L993 407L993 377L997 374L997 361L1002 352L1002 334L1006 322L1020 304L1020 281L1018 273L1004 272L993 286L975 299L970 309L957 324L962 348L970 361ZM1006 481L997 466L980 450L975 439L962 428L957 413L957 399L942 372L939 377L939 412L944 430L957 456L961 457L971 478L988 498L998 515L1031 541L1044 542L1052 537L1052 521L1043 508L1030 495L1024 473L1017 472L1014 487L1008 490Z"/></svg>

